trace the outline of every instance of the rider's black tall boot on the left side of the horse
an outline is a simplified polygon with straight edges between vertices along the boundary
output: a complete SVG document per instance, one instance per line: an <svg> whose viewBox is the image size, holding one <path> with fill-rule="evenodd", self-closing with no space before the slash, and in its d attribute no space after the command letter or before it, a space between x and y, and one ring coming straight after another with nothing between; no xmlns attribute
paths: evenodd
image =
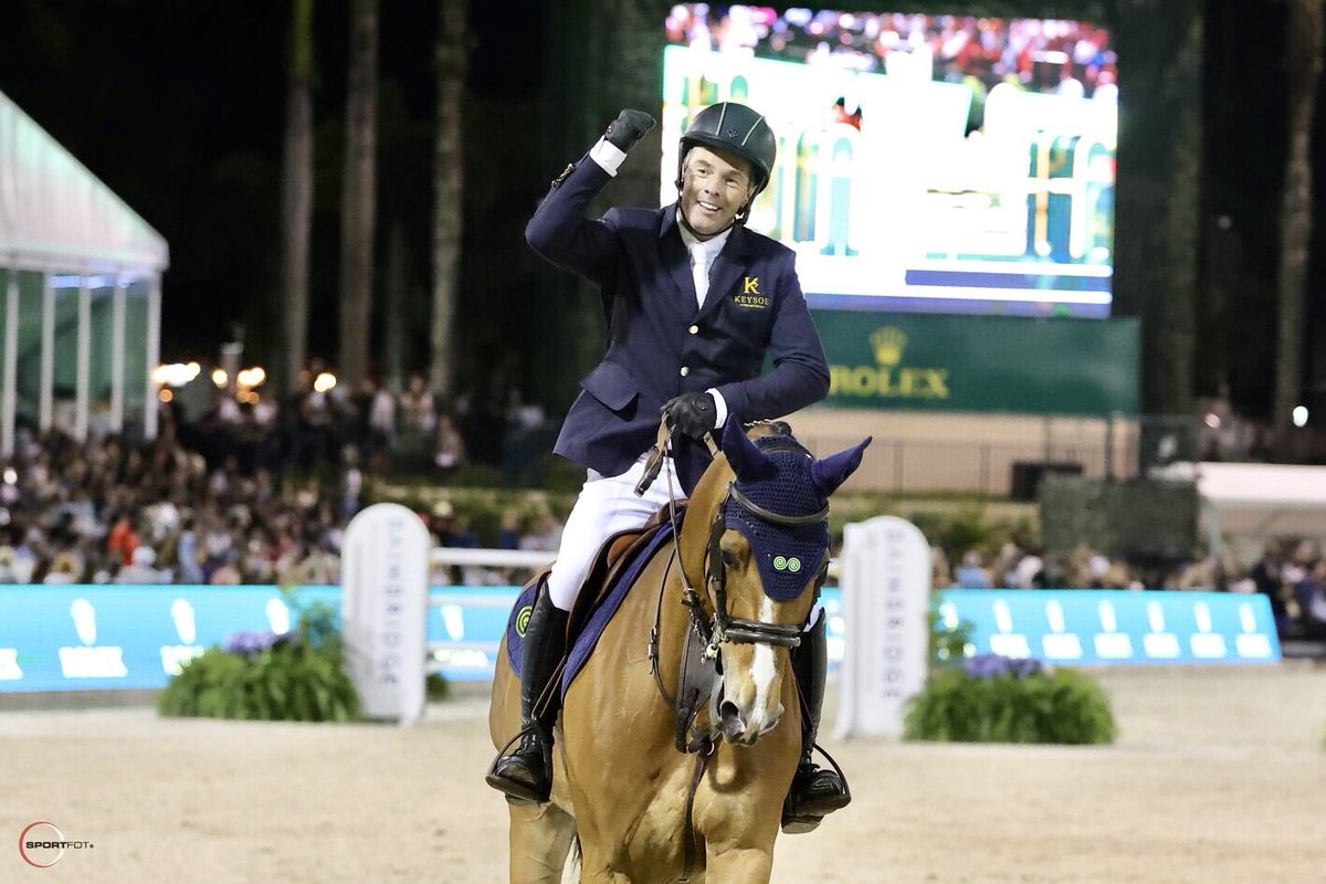
<svg viewBox="0 0 1326 884"><path fill-rule="evenodd" d="M520 745L499 757L487 777L489 786L516 801L542 803L553 791L553 725L561 710L561 691L548 683L566 655L568 616L553 604L545 587L525 627L520 664ZM545 688L546 702L537 709Z"/></svg>

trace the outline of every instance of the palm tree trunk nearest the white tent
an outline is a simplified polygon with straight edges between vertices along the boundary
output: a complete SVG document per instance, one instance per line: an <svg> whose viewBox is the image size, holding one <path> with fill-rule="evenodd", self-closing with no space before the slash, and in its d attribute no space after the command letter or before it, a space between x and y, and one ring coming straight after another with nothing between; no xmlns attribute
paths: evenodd
<svg viewBox="0 0 1326 884"><path fill-rule="evenodd" d="M313 233L313 0L290 4L285 147L281 170L282 399L296 388L309 346L309 248Z"/></svg>

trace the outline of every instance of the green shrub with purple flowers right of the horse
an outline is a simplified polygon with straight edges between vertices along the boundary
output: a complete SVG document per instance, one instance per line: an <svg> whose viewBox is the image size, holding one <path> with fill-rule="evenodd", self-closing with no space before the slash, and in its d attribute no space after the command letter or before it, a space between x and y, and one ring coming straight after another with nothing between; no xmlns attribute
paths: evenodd
<svg viewBox="0 0 1326 884"><path fill-rule="evenodd" d="M1075 669L997 655L937 672L911 698L904 740L1107 744L1116 728L1099 685Z"/></svg>

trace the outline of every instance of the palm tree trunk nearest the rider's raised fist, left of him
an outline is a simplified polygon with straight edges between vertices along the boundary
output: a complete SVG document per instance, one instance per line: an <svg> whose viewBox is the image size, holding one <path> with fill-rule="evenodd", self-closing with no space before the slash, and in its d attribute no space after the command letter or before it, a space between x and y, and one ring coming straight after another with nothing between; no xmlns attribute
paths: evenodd
<svg viewBox="0 0 1326 884"><path fill-rule="evenodd" d="M439 1L438 131L432 156L432 327L428 335L428 379L443 402L455 390L453 327L460 289L464 143L460 138L465 69L465 3Z"/></svg>

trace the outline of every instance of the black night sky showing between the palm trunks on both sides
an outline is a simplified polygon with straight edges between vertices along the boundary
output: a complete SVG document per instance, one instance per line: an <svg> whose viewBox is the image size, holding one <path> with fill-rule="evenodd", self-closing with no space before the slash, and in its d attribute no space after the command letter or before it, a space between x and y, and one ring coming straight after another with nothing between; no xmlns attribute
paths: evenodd
<svg viewBox="0 0 1326 884"><path fill-rule="evenodd" d="M424 329L436 12L434 3L382 5L378 250L381 257L395 227L406 245L412 326ZM522 114L532 113L538 95L542 8L520 4L522 12L513 15L508 4L471 3L464 249L469 278L473 265L509 262L518 228L546 187L549 170L537 162L537 152L528 163L493 159L504 155L501 144L534 130ZM1257 415L1269 400L1274 355L1284 12L1264 0L1209 0L1207 9L1197 392L1209 395L1228 384L1236 406ZM277 0L5 4L0 90L170 243L167 358L215 353L236 322L244 325L253 353L278 346L274 292L288 11L289 4ZM310 343L321 355L334 354L347 20L349 0L317 0ZM1126 58L1120 68L1127 101ZM1326 187L1318 187L1319 201L1323 192ZM1229 219L1227 227L1219 225L1221 216ZM1322 227L1315 241L1326 247ZM511 243L495 243L499 239ZM1314 265L1314 278L1321 277L1322 268ZM492 300L521 297L532 288L526 280L516 276L501 284L514 294L481 281L477 288L493 289L484 292ZM1311 309L1311 325L1326 325L1321 307ZM479 317L475 334L481 337L484 327ZM422 334L410 347L408 367L423 364ZM501 334L518 339L522 331ZM1311 362L1310 367L1326 376L1326 367Z"/></svg>

